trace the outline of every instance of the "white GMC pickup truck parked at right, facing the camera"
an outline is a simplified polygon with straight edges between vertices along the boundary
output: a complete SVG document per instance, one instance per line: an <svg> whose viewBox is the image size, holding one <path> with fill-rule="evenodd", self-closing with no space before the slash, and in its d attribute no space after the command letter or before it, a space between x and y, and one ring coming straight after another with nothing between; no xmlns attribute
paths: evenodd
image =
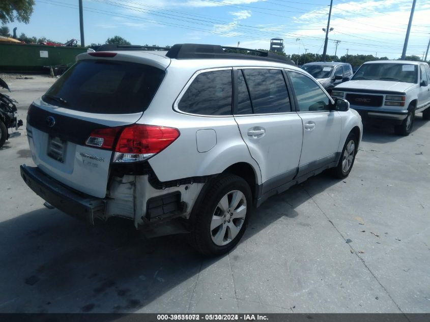
<svg viewBox="0 0 430 322"><path fill-rule="evenodd" d="M335 86L331 95L348 100L363 122L386 119L396 134L409 135L416 113L430 120L429 81L427 63L367 62L349 81Z"/></svg>

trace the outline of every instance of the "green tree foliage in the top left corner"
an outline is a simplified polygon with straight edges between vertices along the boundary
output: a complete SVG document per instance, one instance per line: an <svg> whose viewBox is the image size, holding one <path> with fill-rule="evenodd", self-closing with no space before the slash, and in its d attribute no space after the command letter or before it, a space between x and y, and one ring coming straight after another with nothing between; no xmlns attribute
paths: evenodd
<svg viewBox="0 0 430 322"><path fill-rule="evenodd" d="M34 0L2 0L0 1L0 20L7 24L18 20L28 23L33 13Z"/></svg>

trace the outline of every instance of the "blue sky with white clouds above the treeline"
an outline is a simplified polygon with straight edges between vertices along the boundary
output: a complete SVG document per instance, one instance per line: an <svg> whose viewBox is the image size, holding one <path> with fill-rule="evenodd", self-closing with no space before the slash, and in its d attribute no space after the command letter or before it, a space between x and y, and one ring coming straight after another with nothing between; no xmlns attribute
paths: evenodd
<svg viewBox="0 0 430 322"><path fill-rule="evenodd" d="M78 0L35 0L18 36L80 40ZM333 0L327 54L402 55L413 0ZM83 0L85 45L121 36L135 45L205 43L323 53L330 0ZM417 0L407 55L423 56L430 39L430 0ZM306 50L305 50L306 49ZM428 59L428 57L427 57Z"/></svg>

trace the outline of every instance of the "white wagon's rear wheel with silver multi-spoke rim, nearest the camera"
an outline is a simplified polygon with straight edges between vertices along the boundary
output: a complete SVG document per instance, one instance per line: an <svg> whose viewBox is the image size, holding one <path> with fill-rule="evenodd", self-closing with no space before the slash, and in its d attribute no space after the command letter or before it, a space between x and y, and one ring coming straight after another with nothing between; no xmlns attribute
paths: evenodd
<svg viewBox="0 0 430 322"><path fill-rule="evenodd" d="M230 251L242 238L252 198L248 183L234 174L217 177L206 191L190 220L191 245L204 255Z"/></svg>

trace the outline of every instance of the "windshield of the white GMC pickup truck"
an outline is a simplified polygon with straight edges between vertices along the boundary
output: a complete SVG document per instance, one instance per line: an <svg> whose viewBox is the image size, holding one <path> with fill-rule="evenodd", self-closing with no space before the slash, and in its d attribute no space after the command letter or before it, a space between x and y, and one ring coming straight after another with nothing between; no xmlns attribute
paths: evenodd
<svg viewBox="0 0 430 322"><path fill-rule="evenodd" d="M412 64L364 64L351 80L388 80L416 83L418 79L417 65Z"/></svg>

